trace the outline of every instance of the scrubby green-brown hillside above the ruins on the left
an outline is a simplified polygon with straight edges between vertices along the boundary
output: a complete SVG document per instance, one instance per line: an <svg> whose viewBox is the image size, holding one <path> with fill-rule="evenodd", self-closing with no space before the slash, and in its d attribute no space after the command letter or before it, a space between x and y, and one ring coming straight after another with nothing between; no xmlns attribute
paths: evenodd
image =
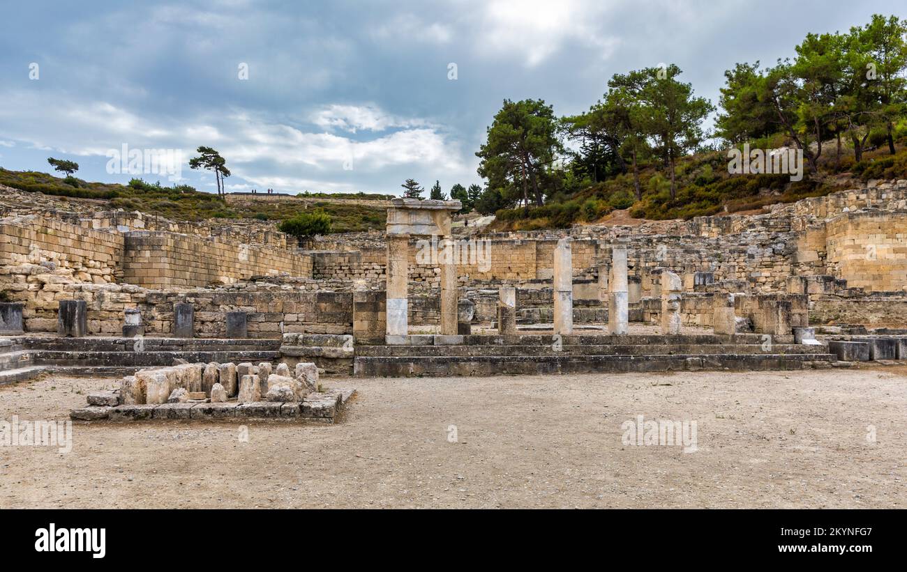
<svg viewBox="0 0 907 572"><path fill-rule="evenodd" d="M254 205L227 205L217 195L199 191L180 191L171 187L151 185L133 188L111 183L89 183L78 179L78 186L67 184L62 178L33 171L9 171L0 167L0 184L23 191L94 199L110 209L122 208L161 215L174 220L200 221L209 218L258 218L267 216L281 221L297 215L306 205L288 203L256 203ZM337 197L339 198L339 197ZM361 198L351 195L351 198ZM341 200L316 201L309 208L321 208L331 217L333 232L361 232L385 227L386 211L371 205L344 204Z"/></svg>

